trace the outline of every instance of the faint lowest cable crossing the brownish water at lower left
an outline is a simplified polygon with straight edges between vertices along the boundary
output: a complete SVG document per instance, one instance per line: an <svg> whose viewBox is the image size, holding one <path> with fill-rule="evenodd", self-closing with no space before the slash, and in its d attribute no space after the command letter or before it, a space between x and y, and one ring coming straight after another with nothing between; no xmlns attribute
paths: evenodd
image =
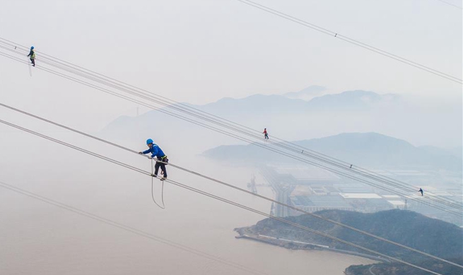
<svg viewBox="0 0 463 275"><path fill-rule="evenodd" d="M242 264L238 264L238 263L229 261L228 259L223 259L223 258L218 257L216 255L211 255L211 254L208 254L206 252L202 252L201 250L197 250L195 248L188 247L186 245L182 245L182 244L177 243L175 241L168 240L168 239L162 238L160 236L156 236L156 235L154 235L152 233L148 233L146 231L141 231L141 230L139 230L137 228L134 228L132 226L128 226L126 224L121 224L121 223L119 223L117 221L113 221L111 219L107 219L105 217L98 216L98 215L90 213L90 212L86 212L86 211L84 211L82 209L72 207L69 204L64 204L62 202L57 202L56 200L52 200L52 199L49 199L48 197L38 195L37 193L32 193L30 191L18 188L17 186L5 183L4 181L0 181L0 187L6 188L6 189L11 190L11 191L14 191L16 193L23 194L23 195L28 196L28 197L32 197L35 200L40 200L40 201L45 202L47 204L52 204L55 207L59 207L59 208L64 209L66 211L74 212L74 213L79 214L81 216L86 216L86 217L88 217L90 219L100 221L103 224L107 224L109 226L113 226L113 227L122 229L124 231L134 233L135 235L138 235L138 236L141 236L141 237L144 237L144 238L148 238L148 239L151 239L151 240L155 240L158 243L163 243L165 245L169 245L171 247L175 247L177 249L180 249L180 250L183 250L183 251L186 251L186 252L190 252L190 253L192 253L194 255L197 255L199 257L203 257L203 258L206 258L206 259L211 259L214 262L219 262L219 263L225 264L225 265L227 265L229 267L233 267L235 269L240 269L240 270L248 272L250 274L266 275L266 273L264 273L262 271L257 271L255 269L250 269L249 267L245 267Z"/></svg>

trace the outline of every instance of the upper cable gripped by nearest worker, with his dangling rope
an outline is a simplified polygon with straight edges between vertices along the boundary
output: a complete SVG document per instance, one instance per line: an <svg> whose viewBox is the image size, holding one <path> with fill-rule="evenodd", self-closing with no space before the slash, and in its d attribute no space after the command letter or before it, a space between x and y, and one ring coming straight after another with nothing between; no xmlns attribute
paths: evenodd
<svg viewBox="0 0 463 275"><path fill-rule="evenodd" d="M4 106L4 107L6 107L6 108L8 108L8 109L11 109L11 110L13 110L13 111L18 110L18 109L16 109L16 108L13 108L13 107L8 106L8 105L6 105L6 104L3 104L3 103L1 103L1 102L0 102L0 106ZM25 115L28 115L28 116L32 116L32 117L34 117L34 118L40 119L41 121L45 121L45 122L47 122L47 123L52 123L52 124L55 125L55 126L59 126L59 127L61 127L61 128L65 128L66 130L71 130L71 131L73 131L74 133L78 133L78 134L81 134L81 135L85 135L85 136L88 137L88 138L92 138L92 139L94 139L94 140L98 140L98 141L100 141L100 142L104 142L104 143L106 143L106 144L108 144L108 145L112 145L112 146L115 146L115 147L117 147L117 148L119 148L119 149L124 149L124 150L126 150L127 152L131 152L131 153L133 153L133 154L137 154L137 155L138 155L138 152L136 152L136 151L133 150L133 149L129 149L129 148L127 148L127 147L123 147L122 145L117 145L117 144L115 144L115 143L113 143L113 142L109 142L109 141L107 141L107 140L103 140L103 139L101 139L101 138L97 138L97 137L95 137L95 136L93 136L93 135L90 135L90 134L87 134L87 133L83 133L83 132L81 132L81 131L79 131L79 130L76 130L76 129L73 129L73 128L69 128L69 127L67 127L67 126L62 126L62 125L59 124L59 123L55 123L55 122L53 122L53 121L49 121L49 120L47 120L46 118L41 118L40 116L35 116L35 115L33 115L33 114L29 114L29 113L27 113L27 112L25 112L25 111L20 111L20 110L18 110L18 111L19 111L21 114L25 114ZM146 157L146 156L143 155L143 157ZM149 157L148 157L148 158L149 158ZM149 159L151 159L151 175L153 176L153 158L149 158ZM217 180L216 178L211 178L211 177L209 177L209 176L205 176L205 175L203 175L203 174L201 174L201 173L197 173L196 171L192 171L192 170L189 170L189 169L185 169L185 168L183 168L183 167L181 167L181 166L177 166L177 165L172 164L172 163L168 164L168 163L165 163L165 162L163 162L163 161L157 161L157 162L160 162L160 163L163 163L163 164L166 164L166 165L170 165L170 166L172 166L172 167L174 167L174 168L176 168L176 169L180 169L180 170L185 171L185 172L187 172L187 173L192 173L192 174L194 174L194 175L196 175L196 176L200 176L201 178L206 178L206 179L208 179L209 181L214 181L214 182L219 183L219 184L221 184L221 185L225 185L225 186L227 186L227 187L229 187L229 188L233 188L233 189L235 189L235 190L239 190L239 191L241 191L241 192L243 192L243 193L247 193L247 194L253 195L253 196L255 196L255 197L259 197L259 198L264 199L264 200L267 200L267 201L269 201L269 202L274 202L274 203L276 203L276 204L280 204L281 206L287 207L288 209L293 209L293 210L298 211L298 212L301 212L301 213L303 213L303 214L307 214L307 215L310 215L310 216L314 216L314 217L317 218L317 219L322 219L322 220L324 220L324 221L328 221L328 222L330 222L330 223L332 223L332 224L336 224L337 226L342 226L342 227L344 227L344 228L348 228L348 229L350 229L350 230L352 230L352 231L356 231L357 233L361 233L361 234L364 234L364 235L366 235L366 236L370 236L370 237L372 237L372 238L376 238L377 240L382 240L382 241L385 241L385 242L390 243L390 244L392 244L392 245L397 245L397 246L399 246L399 247L405 248L406 250L410 250L410 251L413 251L413 252L417 252L417 253L419 253L419 254L421 254L421 255L424 255L424 256L427 256L427 257L432 257L432 258L438 259L438 260L440 260L440 261L442 261L442 262L447 262L448 264L452 264L452 265L455 265L455 266L457 266L457 267L463 268L462 265L455 264L455 263L453 263L453 262L447 261L446 259L443 259L443 258L440 258L440 257L436 257L436 256L434 256L434 255L430 255L430 254L428 254L428 253L426 253L426 252L422 252L421 250L416 250L416 249L414 249L414 248L412 248L412 247L408 247L408 246L406 246L406 245L402 245L402 244L400 244L400 243L394 242L394 241L392 241L392 240L388 240L388 239L386 239L386 238L382 238L382 237L380 237L380 236L375 236L374 234L368 233L367 231L362 231L362 230L360 230L360 229L358 229L358 228L355 228L355 227L353 227L353 226L348 226L348 225L346 225L346 224L342 224L342 223L339 222L339 221L334 221L334 220L329 219L329 218L326 218L326 217L324 217L324 216L321 216L321 215L318 215L318 214L314 214L314 213L311 213L311 212L307 212L307 211L305 211L305 210L303 210L303 209L300 209L300 208L298 208L298 207L293 207L293 206L290 205L290 204L285 204L285 203L279 202L279 201L277 201L277 200L272 200L272 199L269 198L269 197L265 197L265 196L262 196L262 195L258 195L258 194L252 193L252 192L250 192L249 190L245 190L245 189L243 189L243 188L238 188L238 187L235 186L235 185L231 185L230 183L225 183L225 182L223 182L223 181L219 181L219 180ZM153 178L154 178L154 177L151 178L151 195L152 195L152 196L153 196ZM153 197L153 201L156 203L156 205L158 205L158 207L164 209L164 200L162 201L162 202L163 202L163 206L160 206L160 205L156 202L156 200L154 200L154 197Z"/></svg>

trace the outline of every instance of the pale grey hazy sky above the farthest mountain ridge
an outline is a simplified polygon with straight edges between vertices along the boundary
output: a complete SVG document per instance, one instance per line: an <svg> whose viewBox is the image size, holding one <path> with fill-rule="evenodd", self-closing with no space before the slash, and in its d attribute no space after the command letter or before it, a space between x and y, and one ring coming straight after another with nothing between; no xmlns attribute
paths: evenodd
<svg viewBox="0 0 463 275"><path fill-rule="evenodd" d="M441 1L259 3L461 78L462 10ZM455 82L236 0L0 0L0 36L195 104L310 85L420 96L423 104L462 99ZM134 104L0 62L8 104L92 130L134 114Z"/></svg>

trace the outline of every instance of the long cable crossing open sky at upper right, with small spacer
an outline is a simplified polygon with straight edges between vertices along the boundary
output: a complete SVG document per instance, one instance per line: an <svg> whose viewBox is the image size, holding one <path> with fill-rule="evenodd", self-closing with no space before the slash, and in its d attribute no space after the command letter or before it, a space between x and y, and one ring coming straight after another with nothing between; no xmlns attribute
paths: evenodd
<svg viewBox="0 0 463 275"><path fill-rule="evenodd" d="M363 49L368 49L369 51L373 51L377 54L381 54L382 56L386 56L386 57L389 57L389 59L394 59L396 61L399 61L399 62L402 62L402 63L405 63L406 65L409 65L409 66L413 66L415 68L418 68L418 69L421 69L423 71L427 71L428 73L433 73L434 75L438 75L440 76L441 78L446 78L447 80L451 80L453 82L457 82L459 84L463 84L463 80L461 78L457 78L453 75L449 75L447 73L443 73L441 71L438 71L438 70L435 70L433 68L430 68L428 66L424 66L420 63L416 63L414 61L411 61L409 59L405 59L401 56L397 56L395 54L392 54L388 51L384 51L382 49L378 49L377 47L373 47L373 46L370 46L369 44L365 44L363 42L360 42L356 39L352 39L350 37L346 37L344 35L340 35L338 32L334 32L332 30L327 30L325 29L324 27L320 27L318 25L315 25L315 24L312 24L312 23L309 23L305 20L301 20L299 18L295 18L294 16L290 16L286 13L282 13L281 11L277 11L273 8L269 8L268 6L264 6L262 4L258 4L254 1L249 1L249 0L235 0L235 1L239 1L243 4L247 4L249 6L253 6L254 8L258 8L259 10L262 10L262 11L265 11L266 13L271 13L271 14L274 14L275 16L279 16L281 18L284 18L286 20L290 20L290 21L293 21L294 23L297 23L299 25L303 25L305 27L309 27L311 28L312 30L317 30L318 32L322 32L324 33L325 35L329 35L329 36L332 36L332 37L335 37L335 38L339 38L345 42L348 42L350 44L354 44L358 47L362 47Z"/></svg>

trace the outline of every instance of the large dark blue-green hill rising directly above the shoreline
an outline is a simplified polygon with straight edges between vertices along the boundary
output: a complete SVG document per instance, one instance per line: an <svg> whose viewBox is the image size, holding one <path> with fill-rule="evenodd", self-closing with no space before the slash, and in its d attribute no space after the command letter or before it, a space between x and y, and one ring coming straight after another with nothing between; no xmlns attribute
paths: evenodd
<svg viewBox="0 0 463 275"><path fill-rule="evenodd" d="M388 240L413 247L438 257L463 257L462 228L438 219L430 219L416 212L394 209L371 214L341 210L323 210L316 213L328 219L339 221L348 226L356 227L363 231L373 233L376 236L387 238ZM361 233L356 233L355 231L336 226L313 216L304 214L300 216L290 216L285 219L316 231L322 231L331 236L362 245L371 250L385 253L392 257L400 257L413 262L421 261L424 257L404 250L402 247L397 247ZM365 253L365 251L358 250L350 245L303 231L303 229L283 224L274 219L264 219L246 229L253 234L298 240L305 243L328 245L329 247L340 250Z"/></svg>

